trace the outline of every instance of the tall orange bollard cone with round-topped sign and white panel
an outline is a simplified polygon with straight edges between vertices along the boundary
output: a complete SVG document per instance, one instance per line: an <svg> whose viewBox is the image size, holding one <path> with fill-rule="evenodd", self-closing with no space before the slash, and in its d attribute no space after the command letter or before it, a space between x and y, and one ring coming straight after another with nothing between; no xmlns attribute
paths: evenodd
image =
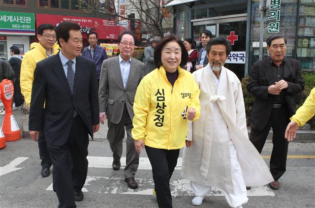
<svg viewBox="0 0 315 208"><path fill-rule="evenodd" d="M11 80L2 80L0 83L1 100L5 109L5 115L2 122L2 132L5 141L12 142L21 139L21 130L12 114L12 99L14 87Z"/></svg>

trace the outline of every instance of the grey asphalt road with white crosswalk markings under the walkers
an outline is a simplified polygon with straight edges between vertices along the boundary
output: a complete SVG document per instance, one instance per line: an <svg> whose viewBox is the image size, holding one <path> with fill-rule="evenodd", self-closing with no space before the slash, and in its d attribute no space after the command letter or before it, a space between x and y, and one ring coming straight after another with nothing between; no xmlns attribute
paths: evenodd
<svg viewBox="0 0 315 208"><path fill-rule="evenodd" d="M124 144L125 145L125 144ZM265 161L271 143L263 150ZM244 208L314 208L315 143L291 143L287 172L280 179L281 189L253 187ZM141 153L136 179L139 188L131 190L124 182L123 170L111 169L111 151L104 139L89 145L89 172L84 186L84 201L78 208L157 208L152 194L154 183L145 151ZM124 161L122 160L124 164ZM8 142L0 150L0 208L56 208L52 176L42 178L37 144L30 139ZM181 156L171 178L174 208L192 208L189 181L181 178ZM11 171L11 172L10 172ZM228 208L221 191L214 189L200 208Z"/></svg>

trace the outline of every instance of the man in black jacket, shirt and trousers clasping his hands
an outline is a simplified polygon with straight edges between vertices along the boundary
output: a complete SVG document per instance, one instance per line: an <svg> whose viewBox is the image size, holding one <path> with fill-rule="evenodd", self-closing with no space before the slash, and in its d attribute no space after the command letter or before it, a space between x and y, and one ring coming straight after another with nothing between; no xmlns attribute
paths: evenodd
<svg viewBox="0 0 315 208"><path fill-rule="evenodd" d="M270 128L273 130L273 150L270 172L275 181L272 189L279 189L278 179L284 174L288 142L284 131L295 112L294 95L304 90L301 64L295 59L285 58L286 39L275 33L267 37L270 57L255 62L250 74L247 90L255 97L250 124L250 140L261 153Z"/></svg>

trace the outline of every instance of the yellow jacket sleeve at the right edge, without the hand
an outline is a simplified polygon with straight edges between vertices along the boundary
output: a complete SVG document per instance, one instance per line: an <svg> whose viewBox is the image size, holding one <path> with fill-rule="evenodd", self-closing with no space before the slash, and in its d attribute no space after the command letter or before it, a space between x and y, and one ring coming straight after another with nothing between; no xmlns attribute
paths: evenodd
<svg viewBox="0 0 315 208"><path fill-rule="evenodd" d="M297 109L296 113L290 118L298 126L303 126L309 119L315 115L315 88L311 90L304 104Z"/></svg>

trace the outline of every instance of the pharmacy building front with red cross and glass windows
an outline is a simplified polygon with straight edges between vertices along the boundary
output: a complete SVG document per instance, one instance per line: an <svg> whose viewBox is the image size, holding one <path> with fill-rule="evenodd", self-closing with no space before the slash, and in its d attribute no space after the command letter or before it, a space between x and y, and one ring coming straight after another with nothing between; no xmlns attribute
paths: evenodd
<svg viewBox="0 0 315 208"><path fill-rule="evenodd" d="M226 61L240 79L259 59L260 3L262 0L173 0L174 32L193 38L197 46L202 30L231 41ZM315 71L315 0L266 0L263 15L263 54L268 56L266 38L281 32L287 38L287 57L298 59L302 70Z"/></svg>

